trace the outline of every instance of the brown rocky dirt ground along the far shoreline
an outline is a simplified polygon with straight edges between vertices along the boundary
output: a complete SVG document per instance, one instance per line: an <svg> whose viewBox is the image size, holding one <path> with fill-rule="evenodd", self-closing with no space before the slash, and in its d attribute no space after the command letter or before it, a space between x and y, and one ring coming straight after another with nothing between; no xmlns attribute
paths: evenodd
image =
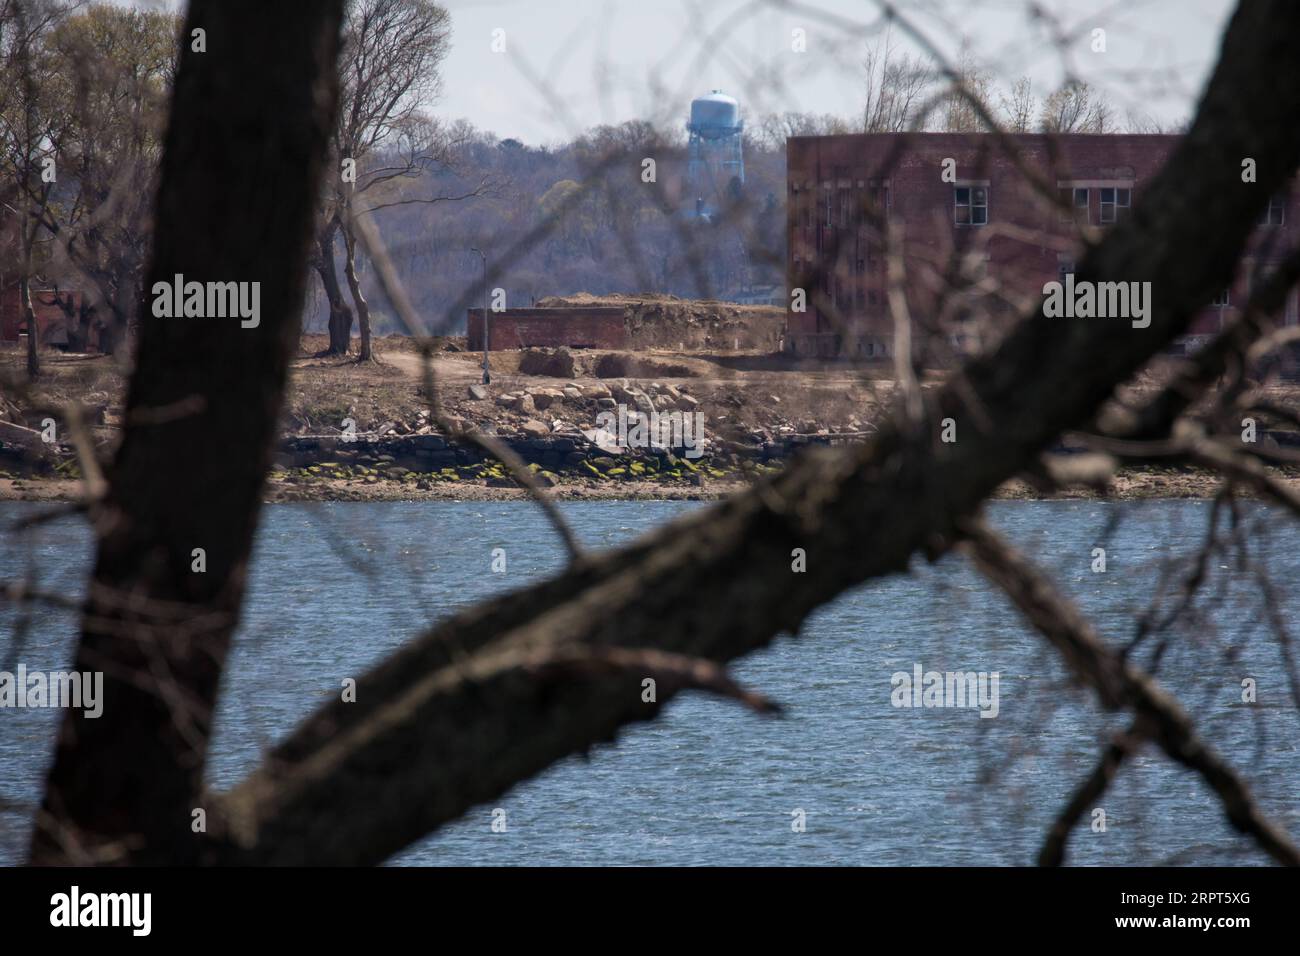
<svg viewBox="0 0 1300 956"><path fill-rule="evenodd" d="M425 360L412 339L399 336L377 339L377 360L373 363L358 363L355 356L320 356L324 347L324 336L307 336L292 360L283 434L338 434L344 419L351 419L358 432L368 434L436 433L424 389ZM525 425L541 425L552 432L592 428L599 408L607 407L592 397L601 393L601 385L612 388L615 394L621 394L619 389L624 388L653 392L656 402L681 402L677 407L705 415L710 436L746 445L797 434L861 438L871 433L874 423L888 412L893 399L892 368L888 364L792 363L784 356L758 350L644 350L634 354L584 350L573 352L576 367L572 377L524 375L519 371L524 352L493 352L491 384L480 398L471 394L471 386L481 380L482 354L471 354L464 349L464 338L448 337L434 342L430 362L441 407L454 419L477 427L490 425L499 434L521 434L526 431ZM668 369L672 375L599 377L590 373L597 365L619 371L634 362L650 363L647 367L651 371ZM22 363L18 350L0 349L0 376L21 380ZM108 356L47 352L44 372L35 393L36 405L79 402L87 408L100 455L108 457L122 420L125 369ZM940 376L931 373L926 385L932 388L939 381ZM1277 394L1270 398L1278 402L1295 405L1300 401L1300 389L1295 386L1273 392ZM538 395L537 407L533 394ZM547 395L547 405L542 405L542 394ZM521 401L525 395L528 401ZM0 418L8 416L14 421L22 415L14 398L0 395ZM25 420L18 423L39 428L39 418L27 412ZM69 483L53 479L14 479L16 475L6 472L0 462L0 499L64 498L75 493L75 485L69 488ZM744 483L731 479L682 488L636 480L592 483L566 477L552 493L560 498L714 498L742 486ZM1214 488L1216 480L1210 475L1141 468L1122 471L1113 481L1112 493L1122 498L1205 497L1213 494ZM334 479L294 484L273 475L268 484L270 501L497 499L521 494L519 489L469 483L420 489L400 483ZM1035 494L1027 486L1009 483L1000 490L1000 497Z"/></svg>

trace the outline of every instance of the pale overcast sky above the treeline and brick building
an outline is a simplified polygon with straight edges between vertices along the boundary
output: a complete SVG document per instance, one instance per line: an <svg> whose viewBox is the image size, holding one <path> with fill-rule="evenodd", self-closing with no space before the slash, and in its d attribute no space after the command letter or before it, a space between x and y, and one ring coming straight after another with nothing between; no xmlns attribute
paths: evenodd
<svg viewBox="0 0 1300 956"><path fill-rule="evenodd" d="M138 5L156 5L136 0ZM168 3L168 7L176 7ZM680 125L693 96L722 88L746 118L801 111L858 116L862 56L880 36L872 0L443 0L452 44L433 112L500 137L562 142L603 122ZM1076 39L1066 57L1026 0L901 0L945 55L965 39L996 75L1027 74L1039 95L1066 60L1119 117L1188 116L1213 65L1231 0L1039 0ZM854 35L854 25L875 29ZM1104 29L1106 51L1092 52ZM793 31L806 35L794 52ZM495 30L506 51L493 52ZM894 43L916 47L898 26Z"/></svg>

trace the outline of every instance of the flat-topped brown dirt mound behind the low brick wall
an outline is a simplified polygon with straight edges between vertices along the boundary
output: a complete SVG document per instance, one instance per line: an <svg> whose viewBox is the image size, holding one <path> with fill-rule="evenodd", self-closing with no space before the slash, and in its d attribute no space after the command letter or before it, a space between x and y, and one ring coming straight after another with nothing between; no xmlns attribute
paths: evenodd
<svg viewBox="0 0 1300 956"><path fill-rule="evenodd" d="M633 349L690 351L780 347L785 311L775 306L741 306L716 299L676 295L551 295L538 308L610 306L624 311Z"/></svg>

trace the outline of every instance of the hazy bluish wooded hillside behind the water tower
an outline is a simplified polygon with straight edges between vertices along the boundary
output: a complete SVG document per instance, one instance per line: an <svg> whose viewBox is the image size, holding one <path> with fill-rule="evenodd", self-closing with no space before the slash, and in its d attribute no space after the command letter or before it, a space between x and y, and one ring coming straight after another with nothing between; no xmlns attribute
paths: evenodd
<svg viewBox="0 0 1300 956"><path fill-rule="evenodd" d="M419 196L374 212L417 310L433 323L464 325L450 310L464 297L478 307L482 261L489 287L508 307L573 293L671 293L723 297L784 282L785 146L758 135L745 142L745 185L715 190L714 221L685 187L686 143L649 124L599 126L563 146L499 139L465 122L442 133L436 172L399 187ZM646 182L654 160L654 182ZM390 160L378 157L380 168ZM429 196L448 196L429 203ZM370 282L363 287L369 293ZM317 285L312 326L328 303ZM374 297L376 334L394 330Z"/></svg>

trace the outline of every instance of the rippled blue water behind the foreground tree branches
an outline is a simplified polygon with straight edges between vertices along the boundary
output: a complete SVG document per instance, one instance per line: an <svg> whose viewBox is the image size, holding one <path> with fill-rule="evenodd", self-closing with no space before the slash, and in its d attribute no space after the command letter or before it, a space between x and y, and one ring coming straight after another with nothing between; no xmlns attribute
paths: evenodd
<svg viewBox="0 0 1300 956"><path fill-rule="evenodd" d="M698 505L569 503L592 546L611 546ZM1205 533L1208 503L1000 502L996 525L1053 568L1109 637L1126 640L1161 562ZM0 505L0 527L30 506ZM1265 524L1261 507L1245 509ZM1280 589L1300 568L1300 531L1253 538ZM1106 548L1105 574L1091 571ZM507 574L490 571L507 553ZM46 527L0 541L0 578L34 570L77 593L88 536ZM211 775L246 773L272 741L419 627L495 591L558 571L563 554L520 502L280 505L265 511L244 624L228 667ZM1248 777L1264 808L1300 834L1297 714L1257 587L1213 562L1217 605L1170 641L1161 679ZM815 574L815 568L810 571ZM1284 593L1283 617L1300 618ZM14 611L0 609L4 667ZM17 659L68 666L75 622L39 610ZM901 709L890 675L997 671L1000 713ZM923 562L841 596L798 639L737 662L734 675L786 708L763 718L685 695L590 760L551 767L412 845L393 862L433 864L1027 864L1122 719L1104 717L1058 661L961 558ZM1243 704L1242 679L1260 702ZM0 710L0 861L21 858L53 741L53 711ZM506 812L493 832L491 810ZM1078 864L1258 864L1195 777L1157 752L1126 763L1102 799L1106 831L1071 840ZM792 829L802 810L806 830Z"/></svg>

